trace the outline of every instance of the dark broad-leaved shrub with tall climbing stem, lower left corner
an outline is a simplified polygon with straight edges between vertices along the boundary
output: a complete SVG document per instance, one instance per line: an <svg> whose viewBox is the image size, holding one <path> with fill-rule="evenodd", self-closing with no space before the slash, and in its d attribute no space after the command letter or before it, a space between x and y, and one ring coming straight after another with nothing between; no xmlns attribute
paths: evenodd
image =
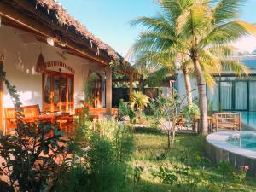
<svg viewBox="0 0 256 192"><path fill-rule="evenodd" d="M15 134L0 137L0 180L8 191L49 191L70 163L68 140L50 123L25 123L15 86L6 79L3 65L0 77L15 106ZM72 142L71 142L72 143ZM2 181L3 182L3 181Z"/></svg>

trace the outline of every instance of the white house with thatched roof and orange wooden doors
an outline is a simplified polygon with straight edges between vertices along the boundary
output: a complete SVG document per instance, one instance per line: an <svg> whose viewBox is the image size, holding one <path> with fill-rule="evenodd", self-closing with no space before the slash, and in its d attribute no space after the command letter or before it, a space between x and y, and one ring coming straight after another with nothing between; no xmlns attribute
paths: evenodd
<svg viewBox="0 0 256 192"><path fill-rule="evenodd" d="M133 68L108 44L91 34L55 0L1 0L0 64L23 105L44 113L81 107L91 75L93 108L112 113L112 73ZM13 103L0 79L0 127Z"/></svg>

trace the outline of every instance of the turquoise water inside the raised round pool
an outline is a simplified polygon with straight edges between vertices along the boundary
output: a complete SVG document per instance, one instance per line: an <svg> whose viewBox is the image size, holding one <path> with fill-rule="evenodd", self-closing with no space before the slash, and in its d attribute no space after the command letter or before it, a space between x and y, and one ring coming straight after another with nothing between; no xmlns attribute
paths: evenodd
<svg viewBox="0 0 256 192"><path fill-rule="evenodd" d="M229 137L227 142L239 148L256 151L256 135L253 134L238 134Z"/></svg>

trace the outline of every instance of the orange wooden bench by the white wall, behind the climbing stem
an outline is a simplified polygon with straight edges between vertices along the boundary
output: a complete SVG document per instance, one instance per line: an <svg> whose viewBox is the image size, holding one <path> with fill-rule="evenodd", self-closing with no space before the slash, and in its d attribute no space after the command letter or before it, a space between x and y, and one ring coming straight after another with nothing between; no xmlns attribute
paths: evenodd
<svg viewBox="0 0 256 192"><path fill-rule="evenodd" d="M20 109L26 122L34 122L40 115L39 105L22 106ZM6 134L9 134L11 129L17 128L15 108L4 108L4 114Z"/></svg>

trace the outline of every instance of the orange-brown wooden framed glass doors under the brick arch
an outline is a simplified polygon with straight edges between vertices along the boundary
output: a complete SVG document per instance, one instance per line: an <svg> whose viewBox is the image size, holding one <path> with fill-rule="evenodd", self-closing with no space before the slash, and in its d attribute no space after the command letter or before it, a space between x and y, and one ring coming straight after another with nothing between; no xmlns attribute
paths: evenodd
<svg viewBox="0 0 256 192"><path fill-rule="evenodd" d="M68 73L43 73L43 111L73 112L74 76Z"/></svg>

